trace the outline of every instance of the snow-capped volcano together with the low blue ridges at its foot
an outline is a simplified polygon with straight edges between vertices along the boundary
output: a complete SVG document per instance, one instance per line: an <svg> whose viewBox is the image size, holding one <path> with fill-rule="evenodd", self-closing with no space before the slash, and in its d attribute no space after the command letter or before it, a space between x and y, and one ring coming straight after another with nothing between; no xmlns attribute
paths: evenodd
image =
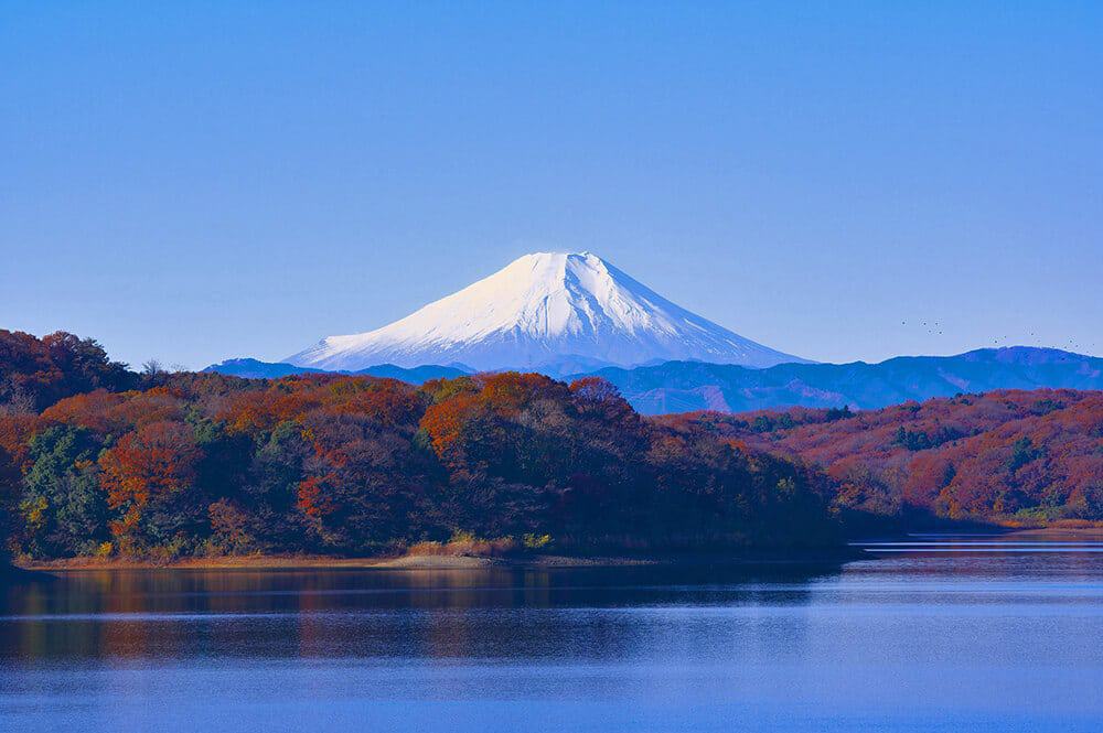
<svg viewBox="0 0 1103 733"><path fill-rule="evenodd" d="M414 384L475 371L600 376L646 414L876 409L994 389L1103 389L1103 359L1052 348L814 364L690 313L592 252L525 255L382 328L329 336L282 363L239 358L206 370L254 378L335 371Z"/></svg>

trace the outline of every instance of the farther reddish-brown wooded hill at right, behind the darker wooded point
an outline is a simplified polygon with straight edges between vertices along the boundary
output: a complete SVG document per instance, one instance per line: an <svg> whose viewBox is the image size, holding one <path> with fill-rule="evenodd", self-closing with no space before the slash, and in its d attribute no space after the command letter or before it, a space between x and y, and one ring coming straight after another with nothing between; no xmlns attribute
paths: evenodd
<svg viewBox="0 0 1103 733"><path fill-rule="evenodd" d="M1103 520L1103 392L1003 390L881 410L657 419L824 468L836 507L1003 522Z"/></svg>

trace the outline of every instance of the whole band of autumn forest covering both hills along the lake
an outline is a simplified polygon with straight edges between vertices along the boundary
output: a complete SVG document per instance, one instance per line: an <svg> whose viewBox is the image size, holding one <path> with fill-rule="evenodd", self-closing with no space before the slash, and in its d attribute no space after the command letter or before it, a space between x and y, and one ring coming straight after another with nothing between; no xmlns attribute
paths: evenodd
<svg viewBox="0 0 1103 733"><path fill-rule="evenodd" d="M0 331L0 502L25 559L820 547L1103 520L1103 394L644 418L597 378L136 373Z"/></svg>

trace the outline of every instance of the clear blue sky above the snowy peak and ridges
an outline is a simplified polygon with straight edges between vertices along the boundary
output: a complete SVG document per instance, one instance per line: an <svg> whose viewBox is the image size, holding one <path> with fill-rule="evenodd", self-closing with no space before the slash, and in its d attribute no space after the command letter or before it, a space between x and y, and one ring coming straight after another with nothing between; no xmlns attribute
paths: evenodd
<svg viewBox="0 0 1103 733"><path fill-rule="evenodd" d="M0 0L0 327L132 364L542 249L813 359L1103 354L1094 0Z"/></svg>

